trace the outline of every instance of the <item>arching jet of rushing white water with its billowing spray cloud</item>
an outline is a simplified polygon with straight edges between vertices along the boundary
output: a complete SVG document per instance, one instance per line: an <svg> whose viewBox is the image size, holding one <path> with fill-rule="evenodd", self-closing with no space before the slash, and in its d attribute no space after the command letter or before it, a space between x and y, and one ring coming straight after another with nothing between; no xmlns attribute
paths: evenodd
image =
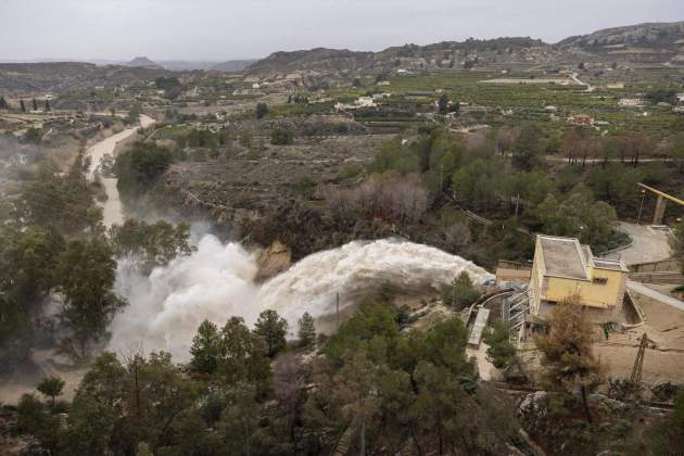
<svg viewBox="0 0 684 456"><path fill-rule="evenodd" d="M239 244L205 236L197 252L154 269L149 278L119 269L117 292L129 305L112 324L110 350L164 350L185 362L204 319L223 326L229 317L241 316L252 325L259 312L273 308L295 330L304 312L318 320L333 315L337 293L344 311L384 283L427 291L464 270L474 282L492 277L471 262L427 245L352 242L309 255L259 287L252 255Z"/></svg>

